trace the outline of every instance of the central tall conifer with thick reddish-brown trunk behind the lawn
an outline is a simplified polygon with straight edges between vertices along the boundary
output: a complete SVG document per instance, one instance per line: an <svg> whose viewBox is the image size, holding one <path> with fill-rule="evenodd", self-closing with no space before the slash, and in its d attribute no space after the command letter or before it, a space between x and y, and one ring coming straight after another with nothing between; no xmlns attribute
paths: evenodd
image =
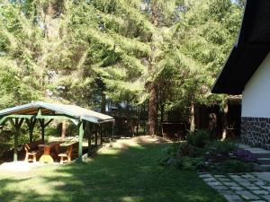
<svg viewBox="0 0 270 202"><path fill-rule="evenodd" d="M148 133L155 134L157 92L161 75L171 67L170 49L181 2L96 0L89 9L99 22L87 34L90 46L94 42L102 47L92 62L106 86L105 93L116 101L148 99Z"/></svg>

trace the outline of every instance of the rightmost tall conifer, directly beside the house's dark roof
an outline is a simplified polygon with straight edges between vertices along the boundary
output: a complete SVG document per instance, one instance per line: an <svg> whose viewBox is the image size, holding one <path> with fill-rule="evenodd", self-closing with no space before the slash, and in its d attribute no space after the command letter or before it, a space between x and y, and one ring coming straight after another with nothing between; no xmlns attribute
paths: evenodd
<svg viewBox="0 0 270 202"><path fill-rule="evenodd" d="M235 42L243 4L229 0L185 1L177 31L178 68L174 96L167 109L185 110L193 126L193 105L211 105L226 99L211 94L211 86ZM175 60L176 61L176 60Z"/></svg>

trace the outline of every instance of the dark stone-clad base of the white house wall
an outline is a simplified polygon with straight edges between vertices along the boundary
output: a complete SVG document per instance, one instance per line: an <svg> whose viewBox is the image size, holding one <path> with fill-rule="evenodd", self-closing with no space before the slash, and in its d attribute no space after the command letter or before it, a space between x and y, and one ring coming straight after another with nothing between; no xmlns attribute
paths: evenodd
<svg viewBox="0 0 270 202"><path fill-rule="evenodd" d="M270 119L242 117L241 142L246 145L269 149Z"/></svg>

